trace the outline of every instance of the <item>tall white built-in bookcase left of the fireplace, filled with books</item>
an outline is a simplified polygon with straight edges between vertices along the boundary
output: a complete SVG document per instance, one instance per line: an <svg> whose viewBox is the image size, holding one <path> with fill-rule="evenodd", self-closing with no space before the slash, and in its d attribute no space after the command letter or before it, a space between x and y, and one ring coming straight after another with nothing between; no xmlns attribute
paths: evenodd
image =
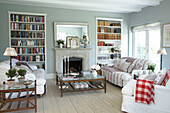
<svg viewBox="0 0 170 113"><path fill-rule="evenodd" d="M9 43L19 61L44 65L46 62L46 14L8 12Z"/></svg>

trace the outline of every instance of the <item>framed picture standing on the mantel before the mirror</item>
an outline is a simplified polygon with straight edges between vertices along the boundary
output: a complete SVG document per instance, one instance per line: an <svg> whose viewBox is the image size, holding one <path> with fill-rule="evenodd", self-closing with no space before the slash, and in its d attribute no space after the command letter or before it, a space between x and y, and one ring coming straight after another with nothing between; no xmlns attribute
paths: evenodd
<svg viewBox="0 0 170 113"><path fill-rule="evenodd" d="M79 48L80 38L78 37L67 37L67 48Z"/></svg>

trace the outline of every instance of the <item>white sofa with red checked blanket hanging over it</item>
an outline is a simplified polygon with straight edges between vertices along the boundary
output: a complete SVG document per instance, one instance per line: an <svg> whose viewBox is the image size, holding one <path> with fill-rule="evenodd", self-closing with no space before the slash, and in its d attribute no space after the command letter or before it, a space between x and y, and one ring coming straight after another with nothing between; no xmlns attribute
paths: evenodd
<svg viewBox="0 0 170 113"><path fill-rule="evenodd" d="M122 111L128 113L170 113L170 80L166 86L155 85L155 104L135 102L136 80L131 80L122 88Z"/></svg>

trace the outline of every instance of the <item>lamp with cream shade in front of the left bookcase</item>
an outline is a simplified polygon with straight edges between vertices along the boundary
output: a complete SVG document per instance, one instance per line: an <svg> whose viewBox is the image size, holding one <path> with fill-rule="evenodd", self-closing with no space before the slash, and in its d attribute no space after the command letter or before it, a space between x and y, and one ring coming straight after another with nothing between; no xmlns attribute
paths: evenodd
<svg viewBox="0 0 170 113"><path fill-rule="evenodd" d="M12 69L12 56L17 56L17 53L14 48L7 47L4 54L4 56L10 56L10 69Z"/></svg>

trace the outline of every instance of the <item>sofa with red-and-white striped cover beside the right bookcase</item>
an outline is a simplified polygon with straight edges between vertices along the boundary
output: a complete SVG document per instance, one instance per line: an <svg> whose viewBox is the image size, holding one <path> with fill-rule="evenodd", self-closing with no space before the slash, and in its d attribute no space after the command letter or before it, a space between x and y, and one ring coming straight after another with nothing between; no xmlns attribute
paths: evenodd
<svg viewBox="0 0 170 113"><path fill-rule="evenodd" d="M123 71L115 67L103 67L101 69L102 76L105 76L106 80L120 87L125 86L131 79L133 79L132 75L136 73L135 66L141 65L141 70L146 70L147 63L150 62L147 59L138 59L132 57L123 57L122 59L125 59L125 62L130 63L129 67L127 68L127 71ZM134 67L130 69L131 66Z"/></svg>

